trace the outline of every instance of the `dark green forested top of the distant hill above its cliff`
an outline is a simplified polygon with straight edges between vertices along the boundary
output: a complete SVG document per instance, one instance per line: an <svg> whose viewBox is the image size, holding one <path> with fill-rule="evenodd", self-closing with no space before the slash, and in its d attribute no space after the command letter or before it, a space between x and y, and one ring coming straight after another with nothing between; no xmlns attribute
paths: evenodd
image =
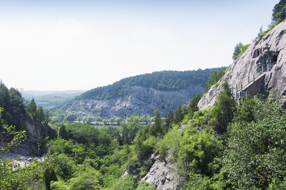
<svg viewBox="0 0 286 190"><path fill-rule="evenodd" d="M101 86L82 93L76 100L88 98L91 100L103 100L128 95L126 89L132 86L143 86L155 88L161 91L179 90L188 87L190 84L203 85L213 71L219 72L221 68L198 69L192 71L160 71L150 74L141 74L124 78L108 86Z"/></svg>

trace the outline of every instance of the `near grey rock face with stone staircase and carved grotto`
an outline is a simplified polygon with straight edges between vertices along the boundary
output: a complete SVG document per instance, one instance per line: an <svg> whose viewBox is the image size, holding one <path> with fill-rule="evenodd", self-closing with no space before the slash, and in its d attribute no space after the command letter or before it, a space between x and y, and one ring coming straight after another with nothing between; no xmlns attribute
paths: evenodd
<svg viewBox="0 0 286 190"><path fill-rule="evenodd" d="M226 81L230 86L237 87L242 92L247 91L250 95L262 93L267 97L269 93L275 93L286 98L285 32L286 22L283 21L253 42L227 70L222 82ZM200 109L213 105L216 97L213 96L214 92L213 86L200 100Z"/></svg>

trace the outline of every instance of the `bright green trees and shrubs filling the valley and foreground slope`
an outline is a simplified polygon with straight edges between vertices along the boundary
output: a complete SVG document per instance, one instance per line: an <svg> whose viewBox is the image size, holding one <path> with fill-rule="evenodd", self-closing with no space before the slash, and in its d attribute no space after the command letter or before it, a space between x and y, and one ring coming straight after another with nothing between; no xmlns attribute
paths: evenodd
<svg viewBox="0 0 286 190"><path fill-rule="evenodd" d="M197 110L194 98L190 108L178 106L181 121L170 113L168 125L161 123L159 110L152 125L140 125L142 118L135 116L122 122L121 130L61 124L58 138L48 142L53 162L43 166L35 185L43 190L154 190L138 179L147 174L147 158L156 153L174 163L171 172L181 189L285 189L286 112L281 101L275 96L246 98L237 105L228 84L223 87L213 108ZM120 178L126 168L138 175Z"/></svg>

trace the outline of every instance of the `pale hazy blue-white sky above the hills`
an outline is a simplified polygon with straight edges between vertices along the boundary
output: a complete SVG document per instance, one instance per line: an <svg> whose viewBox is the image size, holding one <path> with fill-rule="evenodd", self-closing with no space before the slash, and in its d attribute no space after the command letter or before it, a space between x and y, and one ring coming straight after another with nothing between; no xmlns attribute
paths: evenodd
<svg viewBox="0 0 286 190"><path fill-rule="evenodd" d="M279 0L0 0L7 88L90 90L162 70L229 66Z"/></svg>

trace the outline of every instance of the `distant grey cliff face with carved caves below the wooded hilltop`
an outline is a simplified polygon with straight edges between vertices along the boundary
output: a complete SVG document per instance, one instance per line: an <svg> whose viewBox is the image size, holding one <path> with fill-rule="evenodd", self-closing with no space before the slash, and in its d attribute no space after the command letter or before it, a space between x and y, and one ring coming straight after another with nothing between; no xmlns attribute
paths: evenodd
<svg viewBox="0 0 286 190"><path fill-rule="evenodd" d="M134 86L127 89L131 95L110 100L82 99L75 104L75 110L67 109L77 116L100 116L102 118L121 117L132 115L154 116L154 110L159 109L161 117L167 117L169 110L173 112L178 105L188 104L196 94L202 94L204 88L200 85L190 85L178 91L159 91L153 88Z"/></svg>

